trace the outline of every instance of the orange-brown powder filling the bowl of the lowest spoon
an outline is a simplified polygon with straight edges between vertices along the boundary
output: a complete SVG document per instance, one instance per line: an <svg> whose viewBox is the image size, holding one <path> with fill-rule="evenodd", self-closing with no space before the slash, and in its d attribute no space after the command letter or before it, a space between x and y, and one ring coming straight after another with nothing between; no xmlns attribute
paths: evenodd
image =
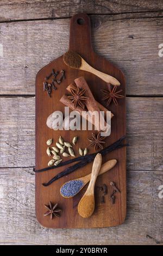
<svg viewBox="0 0 163 256"><path fill-rule="evenodd" d="M79 215L83 218L88 218L93 214L95 209L94 195L84 196L78 204Z"/></svg>

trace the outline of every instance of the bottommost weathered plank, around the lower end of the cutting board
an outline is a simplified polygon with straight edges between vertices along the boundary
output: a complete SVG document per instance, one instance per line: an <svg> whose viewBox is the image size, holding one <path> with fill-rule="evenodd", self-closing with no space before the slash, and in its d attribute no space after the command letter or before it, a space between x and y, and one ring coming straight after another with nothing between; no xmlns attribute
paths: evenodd
<svg viewBox="0 0 163 256"><path fill-rule="evenodd" d="M126 221L120 226L104 229L53 230L41 227L35 217L35 176L31 168L1 169L0 182L1 245L163 243L163 207L158 197L163 172L128 171Z"/></svg>

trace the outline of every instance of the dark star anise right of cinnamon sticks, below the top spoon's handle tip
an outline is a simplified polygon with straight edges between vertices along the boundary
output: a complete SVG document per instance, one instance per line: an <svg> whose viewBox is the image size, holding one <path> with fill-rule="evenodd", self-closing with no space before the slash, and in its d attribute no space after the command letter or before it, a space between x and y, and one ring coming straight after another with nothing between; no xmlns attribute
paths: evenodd
<svg viewBox="0 0 163 256"><path fill-rule="evenodd" d="M122 90L118 90L116 92L117 86L114 86L111 88L110 84L108 84L108 90L103 89L102 92L105 94L103 97L103 100L107 100L107 106L110 105L111 101L115 103L115 105L118 105L116 98L123 98L123 95L120 95L119 93L122 92Z"/></svg>

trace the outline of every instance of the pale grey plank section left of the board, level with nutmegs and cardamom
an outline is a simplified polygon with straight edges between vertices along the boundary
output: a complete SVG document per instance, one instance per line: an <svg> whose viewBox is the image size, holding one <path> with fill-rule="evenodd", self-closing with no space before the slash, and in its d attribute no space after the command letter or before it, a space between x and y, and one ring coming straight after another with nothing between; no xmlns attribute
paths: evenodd
<svg viewBox="0 0 163 256"><path fill-rule="evenodd" d="M0 102L0 166L34 166L35 98L6 97Z"/></svg>

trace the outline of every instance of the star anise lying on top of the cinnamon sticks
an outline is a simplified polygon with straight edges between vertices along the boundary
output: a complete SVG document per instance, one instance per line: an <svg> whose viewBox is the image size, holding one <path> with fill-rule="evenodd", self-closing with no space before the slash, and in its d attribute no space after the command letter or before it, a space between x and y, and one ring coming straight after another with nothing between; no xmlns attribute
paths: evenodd
<svg viewBox="0 0 163 256"><path fill-rule="evenodd" d="M85 104L83 103L84 100L87 99L87 97L84 96L84 93L86 92L85 89L80 89L77 87L76 89L70 89L71 95L68 96L68 99L71 99L71 102L74 103L74 109L76 109L77 106L85 108Z"/></svg>

